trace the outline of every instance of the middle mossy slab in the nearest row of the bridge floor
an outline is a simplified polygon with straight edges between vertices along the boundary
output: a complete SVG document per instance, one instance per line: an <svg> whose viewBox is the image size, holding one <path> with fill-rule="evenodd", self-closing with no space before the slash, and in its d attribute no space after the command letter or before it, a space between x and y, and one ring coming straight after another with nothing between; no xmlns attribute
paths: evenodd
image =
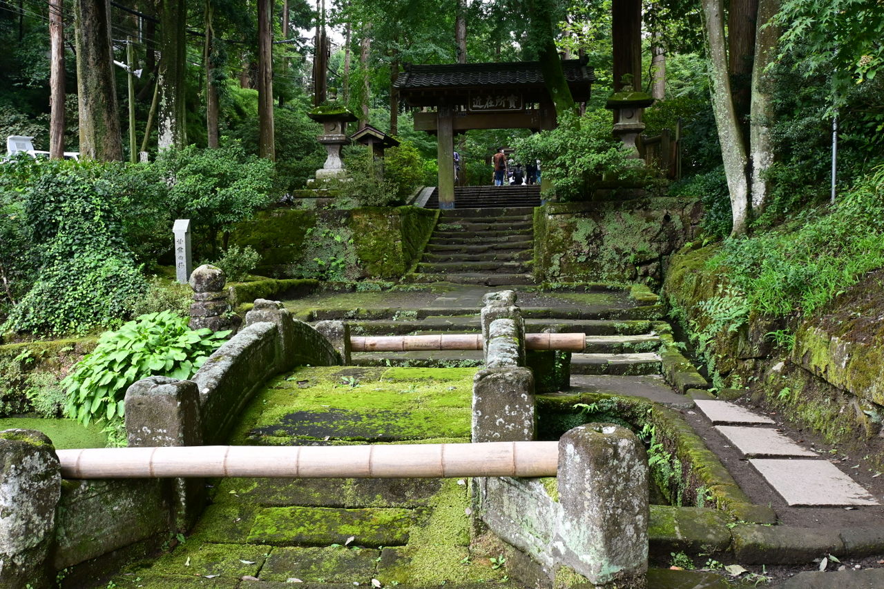
<svg viewBox="0 0 884 589"><path fill-rule="evenodd" d="M261 580L370 585L379 557L379 550L359 547L277 548L261 570Z"/></svg>

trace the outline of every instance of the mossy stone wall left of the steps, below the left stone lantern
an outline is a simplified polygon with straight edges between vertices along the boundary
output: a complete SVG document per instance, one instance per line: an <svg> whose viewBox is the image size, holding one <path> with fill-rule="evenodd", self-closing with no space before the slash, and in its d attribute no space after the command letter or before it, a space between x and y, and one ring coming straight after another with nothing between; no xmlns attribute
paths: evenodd
<svg viewBox="0 0 884 589"><path fill-rule="evenodd" d="M400 278L420 259L437 215L416 207L274 208L240 223L231 243L261 253L255 272L262 276Z"/></svg>

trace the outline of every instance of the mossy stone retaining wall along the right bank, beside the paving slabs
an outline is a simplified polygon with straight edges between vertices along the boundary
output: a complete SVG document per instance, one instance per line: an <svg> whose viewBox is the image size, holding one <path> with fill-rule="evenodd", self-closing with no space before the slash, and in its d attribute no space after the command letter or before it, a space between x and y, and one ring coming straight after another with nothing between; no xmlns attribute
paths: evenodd
<svg viewBox="0 0 884 589"><path fill-rule="evenodd" d="M707 264L717 248L683 249L667 270L663 296L687 332L705 329L703 301L720 297L728 276ZM733 331L706 344L710 375L721 387L746 395L796 427L827 442L857 449L884 468L884 270L866 276L812 316L798 318L791 351L777 349L769 334L783 325L751 313ZM710 366L711 365L711 366Z"/></svg>

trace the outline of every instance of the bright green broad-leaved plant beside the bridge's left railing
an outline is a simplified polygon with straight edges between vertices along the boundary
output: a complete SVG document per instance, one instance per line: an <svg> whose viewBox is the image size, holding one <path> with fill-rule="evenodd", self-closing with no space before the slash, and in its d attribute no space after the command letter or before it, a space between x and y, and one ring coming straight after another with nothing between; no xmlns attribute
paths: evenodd
<svg viewBox="0 0 884 589"><path fill-rule="evenodd" d="M168 311L141 315L105 332L62 381L65 414L83 425L122 419L123 397L133 382L151 375L190 378L229 334L190 329L187 319Z"/></svg>

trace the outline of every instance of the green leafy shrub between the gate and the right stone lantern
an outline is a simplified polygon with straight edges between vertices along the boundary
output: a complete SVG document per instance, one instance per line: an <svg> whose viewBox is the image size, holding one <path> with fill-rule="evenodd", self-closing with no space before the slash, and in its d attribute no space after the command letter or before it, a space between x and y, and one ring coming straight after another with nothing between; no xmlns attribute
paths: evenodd
<svg viewBox="0 0 884 589"><path fill-rule="evenodd" d="M610 111L590 110L583 117L565 113L559 126L525 139L514 147L523 161L540 160L543 175L562 200L579 200L591 181L603 175L633 177L635 167L620 140L611 135Z"/></svg>

